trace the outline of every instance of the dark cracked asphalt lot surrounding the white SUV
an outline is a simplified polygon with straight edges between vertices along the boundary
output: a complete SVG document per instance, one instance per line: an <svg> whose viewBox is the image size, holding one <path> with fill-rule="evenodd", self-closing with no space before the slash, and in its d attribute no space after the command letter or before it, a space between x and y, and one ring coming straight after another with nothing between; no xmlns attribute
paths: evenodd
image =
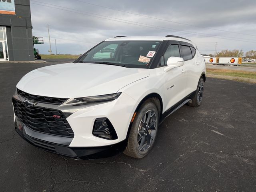
<svg viewBox="0 0 256 192"><path fill-rule="evenodd" d="M46 64L0 64L1 192L256 191L256 85L207 78L199 108L183 106L160 125L148 156L73 160L14 132L12 94Z"/></svg>

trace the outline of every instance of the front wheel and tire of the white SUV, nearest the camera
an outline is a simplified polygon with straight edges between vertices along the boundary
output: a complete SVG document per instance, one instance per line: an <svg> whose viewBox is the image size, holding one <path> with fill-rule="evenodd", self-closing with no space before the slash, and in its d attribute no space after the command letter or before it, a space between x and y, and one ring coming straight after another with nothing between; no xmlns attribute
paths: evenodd
<svg viewBox="0 0 256 192"><path fill-rule="evenodd" d="M148 119L149 114L150 118ZM151 99L146 100L137 111L132 122L124 154L138 159L146 156L156 140L158 120L159 114L156 105Z"/></svg>

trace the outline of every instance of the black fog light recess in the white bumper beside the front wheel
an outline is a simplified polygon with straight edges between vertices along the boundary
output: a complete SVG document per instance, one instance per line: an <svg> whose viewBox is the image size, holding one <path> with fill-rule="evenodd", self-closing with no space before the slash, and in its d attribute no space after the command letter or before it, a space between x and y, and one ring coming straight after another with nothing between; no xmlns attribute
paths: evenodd
<svg viewBox="0 0 256 192"><path fill-rule="evenodd" d="M95 120L92 134L100 138L110 140L117 139L116 131L107 118L99 118Z"/></svg>

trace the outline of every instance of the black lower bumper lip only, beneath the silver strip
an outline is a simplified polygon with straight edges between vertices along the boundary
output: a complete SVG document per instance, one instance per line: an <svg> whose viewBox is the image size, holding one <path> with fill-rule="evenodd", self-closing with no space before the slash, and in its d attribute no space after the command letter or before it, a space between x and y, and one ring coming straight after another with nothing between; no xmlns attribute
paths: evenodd
<svg viewBox="0 0 256 192"><path fill-rule="evenodd" d="M114 156L124 151L128 141L126 139L117 144L100 147L69 147L33 138L17 127L15 127L15 130L24 140L37 148L76 159L97 159Z"/></svg>

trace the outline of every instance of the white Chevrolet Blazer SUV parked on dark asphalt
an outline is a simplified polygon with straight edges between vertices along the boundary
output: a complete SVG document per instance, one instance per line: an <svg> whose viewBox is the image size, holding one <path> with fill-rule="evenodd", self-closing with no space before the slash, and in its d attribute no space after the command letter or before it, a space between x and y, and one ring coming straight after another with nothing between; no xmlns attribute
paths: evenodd
<svg viewBox="0 0 256 192"><path fill-rule="evenodd" d="M101 50L110 53L100 57ZM13 96L15 129L72 158L120 151L142 158L164 118L186 103L200 106L205 80L204 58L190 40L117 36L73 63L26 74Z"/></svg>

